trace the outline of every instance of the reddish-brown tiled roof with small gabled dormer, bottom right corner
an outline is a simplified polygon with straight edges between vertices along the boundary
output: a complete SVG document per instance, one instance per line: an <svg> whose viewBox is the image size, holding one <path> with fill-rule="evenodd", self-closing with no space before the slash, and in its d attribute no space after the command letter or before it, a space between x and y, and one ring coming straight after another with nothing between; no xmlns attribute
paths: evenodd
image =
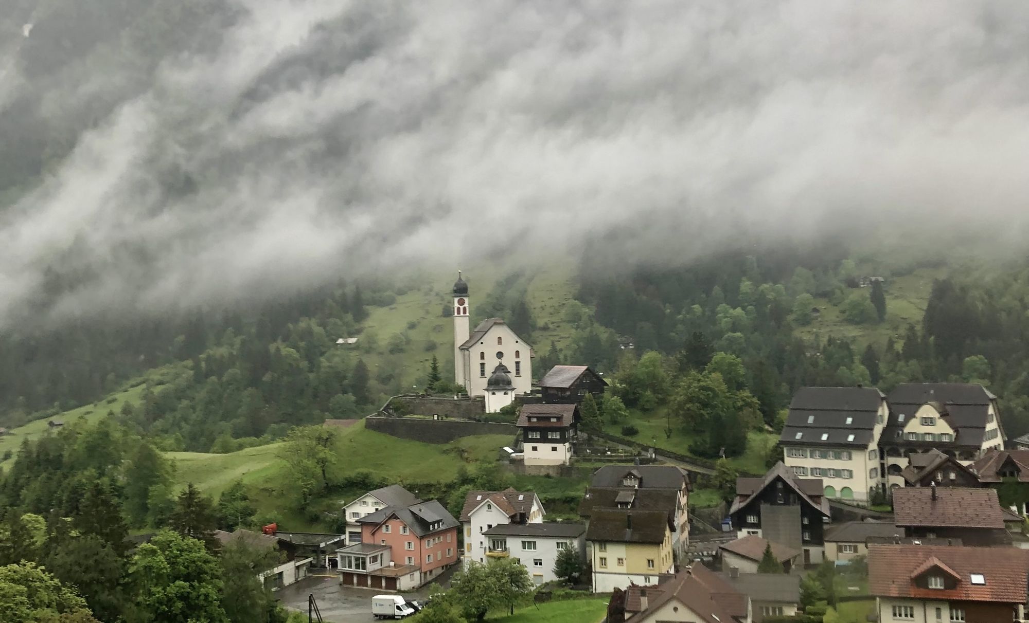
<svg viewBox="0 0 1029 623"><path fill-rule="evenodd" d="M954 589L915 586L913 575L930 558L959 579ZM868 546L868 592L877 597L1025 603L1027 569L1029 550L1014 547L873 544ZM972 574L983 575L985 583L972 584Z"/></svg>

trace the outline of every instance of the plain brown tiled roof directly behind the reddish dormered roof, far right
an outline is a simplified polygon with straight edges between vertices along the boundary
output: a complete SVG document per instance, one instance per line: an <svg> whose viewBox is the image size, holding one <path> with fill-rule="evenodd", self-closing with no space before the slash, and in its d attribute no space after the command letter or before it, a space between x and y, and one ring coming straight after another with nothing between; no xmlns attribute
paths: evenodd
<svg viewBox="0 0 1029 623"><path fill-rule="evenodd" d="M1004 527L997 491L991 488L899 487L893 490L893 519L901 526Z"/></svg>

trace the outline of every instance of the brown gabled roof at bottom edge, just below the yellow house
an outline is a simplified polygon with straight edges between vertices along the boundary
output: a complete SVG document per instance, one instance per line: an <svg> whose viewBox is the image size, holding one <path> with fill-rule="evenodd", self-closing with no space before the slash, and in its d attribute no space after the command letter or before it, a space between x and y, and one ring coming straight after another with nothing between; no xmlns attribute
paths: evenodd
<svg viewBox="0 0 1029 623"><path fill-rule="evenodd" d="M640 612L641 596L647 597L646 610L632 620L645 619L673 599L705 623L732 623L744 619L750 611L747 595L703 564L687 566L661 586L630 585L626 593L627 612Z"/></svg>

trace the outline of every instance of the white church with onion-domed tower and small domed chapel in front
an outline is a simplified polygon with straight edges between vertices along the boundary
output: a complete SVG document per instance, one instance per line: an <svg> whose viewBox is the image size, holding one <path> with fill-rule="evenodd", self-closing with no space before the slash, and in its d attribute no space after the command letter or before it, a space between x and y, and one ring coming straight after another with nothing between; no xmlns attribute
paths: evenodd
<svg viewBox="0 0 1029 623"><path fill-rule="evenodd" d="M495 413L532 391L532 346L502 319L488 318L470 328L468 284L458 271L454 283L454 381L468 396L486 398Z"/></svg>

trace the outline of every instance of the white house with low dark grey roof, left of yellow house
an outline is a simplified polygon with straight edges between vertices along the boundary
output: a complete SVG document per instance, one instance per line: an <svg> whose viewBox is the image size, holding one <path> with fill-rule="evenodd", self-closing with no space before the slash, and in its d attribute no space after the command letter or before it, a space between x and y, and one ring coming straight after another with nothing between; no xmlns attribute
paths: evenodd
<svg viewBox="0 0 1029 623"><path fill-rule="evenodd" d="M483 533L489 543L487 556L520 560L535 584L558 579L554 564L562 550L574 547L586 561L586 525L581 523L505 523Z"/></svg>

